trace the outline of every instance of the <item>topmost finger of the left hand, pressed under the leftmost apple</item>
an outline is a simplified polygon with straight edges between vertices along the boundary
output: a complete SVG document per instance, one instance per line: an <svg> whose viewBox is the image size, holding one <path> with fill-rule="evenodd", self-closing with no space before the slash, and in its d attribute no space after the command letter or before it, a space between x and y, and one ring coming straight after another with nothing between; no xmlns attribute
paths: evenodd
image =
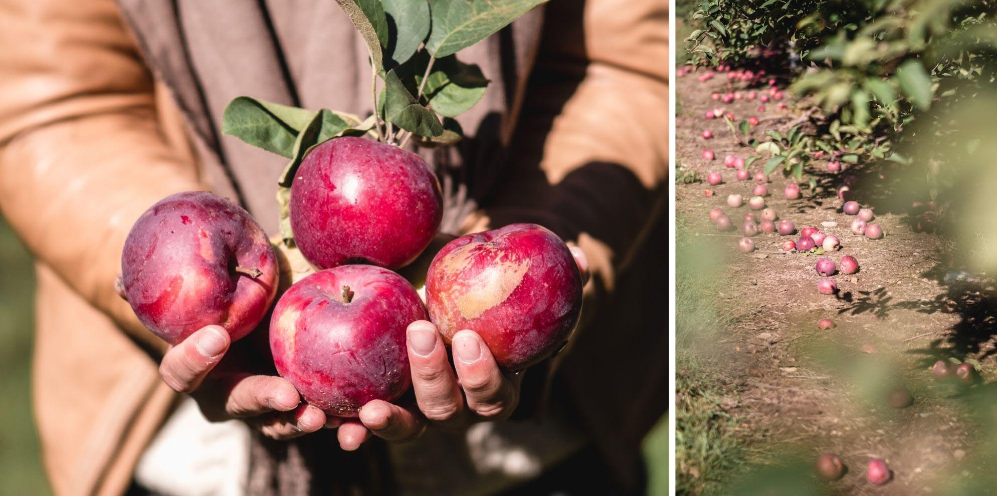
<svg viewBox="0 0 997 496"><path fill-rule="evenodd" d="M231 340L220 326L195 331L166 351L160 375L166 385L178 392L190 392L200 385L207 372L221 360Z"/></svg>

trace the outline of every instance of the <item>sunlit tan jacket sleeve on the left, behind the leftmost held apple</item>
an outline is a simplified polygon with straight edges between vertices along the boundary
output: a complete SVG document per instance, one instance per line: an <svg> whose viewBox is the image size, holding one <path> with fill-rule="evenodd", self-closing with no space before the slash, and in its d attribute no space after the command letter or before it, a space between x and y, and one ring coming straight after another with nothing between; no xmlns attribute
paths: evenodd
<svg viewBox="0 0 997 496"><path fill-rule="evenodd" d="M0 0L0 19L0 210L41 263L162 349L115 292L121 251L146 208L202 186L136 43L112 0Z"/></svg>

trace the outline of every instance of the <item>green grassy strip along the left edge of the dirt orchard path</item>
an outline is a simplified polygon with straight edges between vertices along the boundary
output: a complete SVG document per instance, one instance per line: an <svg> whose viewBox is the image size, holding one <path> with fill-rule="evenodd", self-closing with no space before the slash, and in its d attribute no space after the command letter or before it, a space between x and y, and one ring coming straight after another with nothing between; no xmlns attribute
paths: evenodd
<svg viewBox="0 0 997 496"><path fill-rule="evenodd" d="M714 371L716 341L732 319L717 301L722 256L695 236L687 219L676 219L676 493L727 494L725 482L744 463L737 419L722 405L735 392Z"/></svg>

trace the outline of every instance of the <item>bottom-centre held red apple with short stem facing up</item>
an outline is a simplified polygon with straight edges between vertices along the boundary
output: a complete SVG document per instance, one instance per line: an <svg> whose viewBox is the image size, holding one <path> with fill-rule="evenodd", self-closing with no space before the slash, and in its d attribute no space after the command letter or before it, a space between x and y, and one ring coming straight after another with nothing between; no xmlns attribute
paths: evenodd
<svg viewBox="0 0 997 496"><path fill-rule="evenodd" d="M405 330L427 320L402 276L373 265L312 274L280 297L270 351L280 376L327 414L355 417L372 399L391 401L412 384Z"/></svg>

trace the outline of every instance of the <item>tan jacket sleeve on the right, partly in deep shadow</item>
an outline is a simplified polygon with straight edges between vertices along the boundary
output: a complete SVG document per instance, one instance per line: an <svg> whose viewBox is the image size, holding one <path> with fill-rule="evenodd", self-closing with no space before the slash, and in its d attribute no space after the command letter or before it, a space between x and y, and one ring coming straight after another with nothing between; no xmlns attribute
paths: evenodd
<svg viewBox="0 0 997 496"><path fill-rule="evenodd" d="M466 228L545 225L611 290L665 206L668 3L553 0L544 25L508 169Z"/></svg>

